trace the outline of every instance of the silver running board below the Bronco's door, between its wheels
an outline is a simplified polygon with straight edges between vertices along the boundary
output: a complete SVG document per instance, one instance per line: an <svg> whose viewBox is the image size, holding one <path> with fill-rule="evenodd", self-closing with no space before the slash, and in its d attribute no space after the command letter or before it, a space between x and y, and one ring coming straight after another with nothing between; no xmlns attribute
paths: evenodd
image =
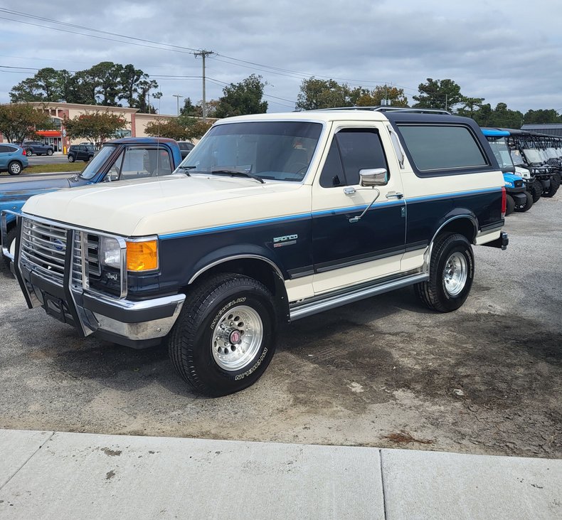
<svg viewBox="0 0 562 520"><path fill-rule="evenodd" d="M429 280L429 275L423 272L402 277L391 282L378 282L376 284L369 285L368 287L363 285L359 289L352 289L343 293L338 292L337 295L327 296L322 299L315 298L314 302L304 302L292 307L290 309L290 320L293 322L295 319L306 318L307 316L317 314L318 312L334 309L335 307L340 307L341 305L346 305L351 302L357 302L360 299L370 298L371 296L381 295L383 292L389 292L395 289L401 289L402 287L407 287L408 285L425 282L425 280Z"/></svg>

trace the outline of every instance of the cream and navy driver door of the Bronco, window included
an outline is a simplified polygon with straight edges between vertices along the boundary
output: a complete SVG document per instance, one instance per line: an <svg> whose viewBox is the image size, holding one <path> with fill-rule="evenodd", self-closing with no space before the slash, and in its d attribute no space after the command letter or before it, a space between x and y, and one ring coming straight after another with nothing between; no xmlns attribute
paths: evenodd
<svg viewBox="0 0 562 520"><path fill-rule="evenodd" d="M312 191L316 295L400 271L405 202L398 160L386 156L382 139L392 150L382 123L340 124L333 131ZM359 171L374 168L388 171L388 183L376 189L361 186ZM371 203L364 216L354 221Z"/></svg>

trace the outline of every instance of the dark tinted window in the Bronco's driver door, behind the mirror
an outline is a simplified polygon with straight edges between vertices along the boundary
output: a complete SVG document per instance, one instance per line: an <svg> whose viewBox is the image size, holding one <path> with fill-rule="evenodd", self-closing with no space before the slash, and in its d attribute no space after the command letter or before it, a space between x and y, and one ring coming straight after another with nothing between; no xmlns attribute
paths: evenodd
<svg viewBox="0 0 562 520"><path fill-rule="evenodd" d="M388 171L378 132L363 128L342 129L332 140L320 174L320 186L356 186L359 184L359 170L371 168Z"/></svg>

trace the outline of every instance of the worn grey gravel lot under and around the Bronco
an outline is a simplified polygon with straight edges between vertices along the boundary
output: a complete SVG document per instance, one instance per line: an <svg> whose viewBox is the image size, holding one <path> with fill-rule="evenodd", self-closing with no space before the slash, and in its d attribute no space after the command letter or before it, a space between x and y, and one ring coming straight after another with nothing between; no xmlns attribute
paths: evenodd
<svg viewBox="0 0 562 520"><path fill-rule="evenodd" d="M0 428L562 457L562 196L475 248L472 293L435 314L405 289L295 322L265 376L193 395L134 351L28 310L0 276Z"/></svg>

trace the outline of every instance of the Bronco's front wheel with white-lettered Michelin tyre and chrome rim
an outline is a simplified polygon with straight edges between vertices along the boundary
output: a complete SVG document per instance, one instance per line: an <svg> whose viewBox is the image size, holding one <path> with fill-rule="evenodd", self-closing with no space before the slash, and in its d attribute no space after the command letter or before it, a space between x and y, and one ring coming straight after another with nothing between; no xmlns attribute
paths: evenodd
<svg viewBox="0 0 562 520"><path fill-rule="evenodd" d="M258 381L275 352L277 312L267 287L223 273L193 287L168 340L174 368L206 396Z"/></svg>

